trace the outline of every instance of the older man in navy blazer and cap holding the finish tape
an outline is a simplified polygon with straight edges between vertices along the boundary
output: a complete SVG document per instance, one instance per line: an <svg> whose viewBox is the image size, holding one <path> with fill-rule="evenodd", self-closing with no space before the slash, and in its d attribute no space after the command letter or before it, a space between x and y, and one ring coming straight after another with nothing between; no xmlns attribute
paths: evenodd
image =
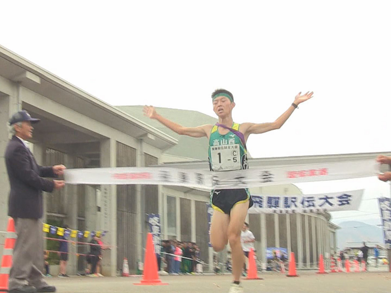
<svg viewBox="0 0 391 293"><path fill-rule="evenodd" d="M43 280L43 235L42 191L52 192L65 185L63 180L48 180L57 177L66 169L64 165L42 167L37 164L25 139L32 138L31 118L26 111L15 113L9 120L13 134L5 150L5 165L11 191L8 215L14 218L18 238L13 252L13 264L9 273L9 293L56 292Z"/></svg>

